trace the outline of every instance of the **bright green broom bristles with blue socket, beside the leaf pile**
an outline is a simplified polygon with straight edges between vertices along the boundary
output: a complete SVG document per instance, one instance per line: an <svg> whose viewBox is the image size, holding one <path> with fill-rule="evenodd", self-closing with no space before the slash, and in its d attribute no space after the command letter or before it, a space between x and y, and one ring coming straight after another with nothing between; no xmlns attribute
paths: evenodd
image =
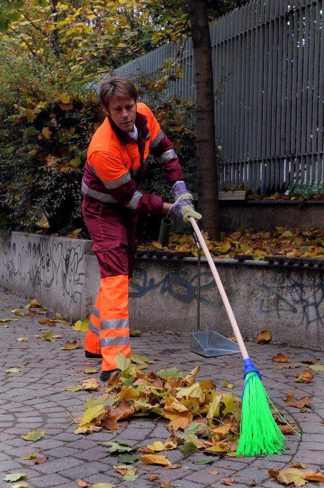
<svg viewBox="0 0 324 488"><path fill-rule="evenodd" d="M284 435L270 411L261 375L250 359L245 359L244 364L240 441L236 455L281 454L286 450Z"/></svg>

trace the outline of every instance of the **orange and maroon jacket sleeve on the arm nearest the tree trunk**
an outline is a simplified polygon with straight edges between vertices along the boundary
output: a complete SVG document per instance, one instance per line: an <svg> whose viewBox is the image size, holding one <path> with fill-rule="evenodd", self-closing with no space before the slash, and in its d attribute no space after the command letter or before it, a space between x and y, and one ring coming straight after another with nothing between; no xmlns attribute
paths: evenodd
<svg viewBox="0 0 324 488"><path fill-rule="evenodd" d="M161 165L164 177L167 181L176 181L177 179L183 179L182 169L179 163L176 151L173 148L172 142L168 139L166 134L161 130L158 121L154 117L151 110L150 112L150 153Z"/></svg>

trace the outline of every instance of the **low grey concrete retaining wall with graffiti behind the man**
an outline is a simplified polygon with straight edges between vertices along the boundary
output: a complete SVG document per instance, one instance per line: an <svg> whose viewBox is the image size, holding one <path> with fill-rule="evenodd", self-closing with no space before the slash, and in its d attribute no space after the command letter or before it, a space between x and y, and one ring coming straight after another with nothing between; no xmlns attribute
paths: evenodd
<svg viewBox="0 0 324 488"><path fill-rule="evenodd" d="M86 240L12 232L0 238L0 284L38 298L72 321L88 317L99 269ZM273 342L324 350L324 281L316 266L215 260L244 338L270 330ZM141 258L129 287L131 326L195 332L197 259ZM202 260L201 330L232 335L208 263Z"/></svg>

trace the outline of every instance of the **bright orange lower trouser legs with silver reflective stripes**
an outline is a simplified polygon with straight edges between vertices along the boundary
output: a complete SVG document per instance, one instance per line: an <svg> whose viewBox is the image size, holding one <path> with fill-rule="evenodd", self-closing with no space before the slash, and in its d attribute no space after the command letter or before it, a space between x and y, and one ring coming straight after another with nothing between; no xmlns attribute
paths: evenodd
<svg viewBox="0 0 324 488"><path fill-rule="evenodd" d="M127 275L107 276L100 280L84 348L94 354L102 354L103 371L117 368L115 355L123 352L129 357Z"/></svg>

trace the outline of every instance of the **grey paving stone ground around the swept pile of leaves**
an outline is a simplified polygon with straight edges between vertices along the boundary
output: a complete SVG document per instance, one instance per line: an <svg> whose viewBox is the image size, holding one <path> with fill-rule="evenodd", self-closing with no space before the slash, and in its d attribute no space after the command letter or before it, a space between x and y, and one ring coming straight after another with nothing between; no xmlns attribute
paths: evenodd
<svg viewBox="0 0 324 488"><path fill-rule="evenodd" d="M236 488L274 488L280 485L269 477L268 470L271 468L283 469L294 462L304 463L308 469L316 472L324 470L324 372L314 372L315 378L308 384L296 383L294 373L305 368L277 370L276 363L271 360L281 351L289 355L290 363L318 356L318 362L323 364L324 353L247 343L249 354L262 374L263 384L271 400L286 418L295 420L302 436L287 436L287 451L282 455L215 457L209 465L193 464L192 461L201 459L202 454L184 458L180 449L176 449L168 451L167 457L173 464L179 463L180 468L144 465L139 461L136 464L139 478L122 481L122 476L113 469L118 464L116 456L107 453L106 448L99 446L98 442L114 439L137 447L146 446L154 440L167 439L166 422L138 417L122 421L120 429L114 433L101 431L90 435L75 435L76 424L71 423L71 416L81 416L87 398L96 396L96 393L71 392L65 388L88 377L84 369L89 362L99 367L100 363L86 359L81 347L72 351L61 350L67 340L84 337L84 333L74 331L71 325L57 323L55 327L50 327L39 323L43 315L18 317L12 313L13 309L27 303L26 299L0 288L0 319L19 319L0 322L1 487L12 486L14 483L4 481L4 477L19 472L27 474L23 481L33 488L77 488L76 480L79 478L93 484L112 483L125 488L159 488L165 480L170 480L173 487L220 488L225 486L220 479L228 477L235 479ZM53 313L47 312L47 317L53 317ZM166 317L166 326L167 320ZM268 328L271 329L271 324ZM56 342L44 341L42 335L48 331L62 334L62 338ZM18 342L17 339L21 337L27 337L28 342ZM191 353L189 335L143 333L132 338L131 343L136 353L155 361L149 364L150 370L177 367L187 374L200 365L199 380L210 379L223 392L231 391L238 396L242 393L244 366L240 354L206 358ZM6 373L4 370L9 368L22 371ZM228 390L223 381L235 383L237 387ZM306 412L285 406L284 399L288 391L295 391L297 399L313 395ZM21 435L34 429L45 431L41 440L30 442L21 438ZM32 460L22 459L22 456L35 450L39 451L38 457L44 454L49 456L45 463L37 465ZM210 474L215 470L219 471L218 475ZM159 478L149 481L154 475ZM309 486L315 484L309 483Z"/></svg>

